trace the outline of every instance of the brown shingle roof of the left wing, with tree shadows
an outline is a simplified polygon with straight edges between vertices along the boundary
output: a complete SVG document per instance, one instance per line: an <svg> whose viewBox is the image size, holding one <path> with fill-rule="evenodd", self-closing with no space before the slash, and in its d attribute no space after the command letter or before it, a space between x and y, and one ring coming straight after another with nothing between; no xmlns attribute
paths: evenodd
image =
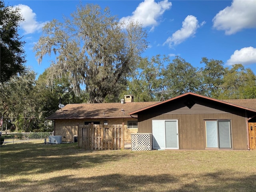
<svg viewBox="0 0 256 192"><path fill-rule="evenodd" d="M47 119L130 118L129 112L156 103L158 102L67 104Z"/></svg>

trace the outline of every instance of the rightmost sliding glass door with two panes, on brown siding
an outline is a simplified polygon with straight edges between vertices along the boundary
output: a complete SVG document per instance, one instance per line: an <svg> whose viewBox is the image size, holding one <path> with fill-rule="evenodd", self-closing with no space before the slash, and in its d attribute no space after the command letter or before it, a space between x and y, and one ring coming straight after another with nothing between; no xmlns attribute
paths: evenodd
<svg viewBox="0 0 256 192"><path fill-rule="evenodd" d="M206 148L232 148L230 120L207 120Z"/></svg>

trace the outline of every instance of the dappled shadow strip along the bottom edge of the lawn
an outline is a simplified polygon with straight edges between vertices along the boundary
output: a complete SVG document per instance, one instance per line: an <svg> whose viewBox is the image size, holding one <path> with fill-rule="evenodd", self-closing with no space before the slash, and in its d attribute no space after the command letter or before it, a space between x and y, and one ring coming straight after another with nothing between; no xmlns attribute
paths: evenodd
<svg viewBox="0 0 256 192"><path fill-rule="evenodd" d="M255 192L255 174L235 179L232 179L232 176L230 176L228 180L223 180L225 178L219 172L214 174L216 174L214 179L212 179L212 174L204 175L204 179L207 181L204 185L199 184L198 181L193 180L190 176L186 176L189 182L184 184L180 177L169 174L159 174L157 176L108 174L88 178L74 178L72 175L66 175L40 182L20 179L16 182L4 182L1 184L1 188L2 191L9 192L17 188L22 190L22 192L33 190L47 192Z"/></svg>

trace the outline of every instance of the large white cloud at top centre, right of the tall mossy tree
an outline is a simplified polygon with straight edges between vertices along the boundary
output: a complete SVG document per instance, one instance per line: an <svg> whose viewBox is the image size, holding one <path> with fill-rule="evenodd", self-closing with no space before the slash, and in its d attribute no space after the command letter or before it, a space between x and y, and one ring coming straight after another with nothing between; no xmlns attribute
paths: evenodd
<svg viewBox="0 0 256 192"><path fill-rule="evenodd" d="M143 27L151 26L151 30L158 25L158 19L164 12L172 6L168 0L159 1L144 0L141 2L136 10L132 12L132 16L123 17L120 22L127 23L129 20L134 20L142 23Z"/></svg>

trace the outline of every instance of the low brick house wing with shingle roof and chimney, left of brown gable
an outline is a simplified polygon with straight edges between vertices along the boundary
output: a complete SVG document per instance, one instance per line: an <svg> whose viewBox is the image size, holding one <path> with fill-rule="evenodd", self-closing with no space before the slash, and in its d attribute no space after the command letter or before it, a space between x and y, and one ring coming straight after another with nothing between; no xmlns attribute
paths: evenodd
<svg viewBox="0 0 256 192"><path fill-rule="evenodd" d="M133 102L132 95L125 95L118 103L67 104L47 119L54 121L54 135L62 136L62 141L75 141L78 124L122 124L124 142L131 142L131 133L138 132L136 115L129 112L156 104L157 102Z"/></svg>

